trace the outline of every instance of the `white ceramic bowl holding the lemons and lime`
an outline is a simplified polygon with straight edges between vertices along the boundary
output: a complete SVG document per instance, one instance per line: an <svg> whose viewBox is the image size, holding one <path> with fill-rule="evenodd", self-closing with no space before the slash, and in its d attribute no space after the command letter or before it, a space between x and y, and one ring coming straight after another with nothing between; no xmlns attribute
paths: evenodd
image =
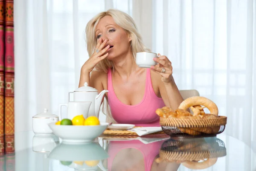
<svg viewBox="0 0 256 171"><path fill-rule="evenodd" d="M84 126L84 125L55 125L50 123L49 127L52 132L62 139L65 144L83 144L93 142L107 129L109 123L100 122L100 125Z"/></svg>

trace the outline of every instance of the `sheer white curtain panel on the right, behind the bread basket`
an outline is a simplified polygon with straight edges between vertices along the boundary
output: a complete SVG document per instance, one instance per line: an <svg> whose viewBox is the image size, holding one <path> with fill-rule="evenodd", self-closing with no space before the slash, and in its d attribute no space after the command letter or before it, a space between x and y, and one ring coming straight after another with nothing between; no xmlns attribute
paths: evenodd
<svg viewBox="0 0 256 171"><path fill-rule="evenodd" d="M212 99L228 117L226 133L251 145L255 0L154 0L153 6L153 51L172 61L179 89Z"/></svg>

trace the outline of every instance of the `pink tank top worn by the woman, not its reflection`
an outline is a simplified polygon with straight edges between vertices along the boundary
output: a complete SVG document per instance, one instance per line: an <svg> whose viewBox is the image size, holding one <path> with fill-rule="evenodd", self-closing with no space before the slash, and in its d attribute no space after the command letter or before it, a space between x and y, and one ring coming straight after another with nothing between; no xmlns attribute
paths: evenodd
<svg viewBox="0 0 256 171"><path fill-rule="evenodd" d="M165 106L163 99L154 93L150 69L146 71L145 94L142 101L136 105L123 104L116 97L112 85L111 69L108 70L108 103L112 117L119 124L134 124L143 127L158 127L159 116L155 113L158 108Z"/></svg>

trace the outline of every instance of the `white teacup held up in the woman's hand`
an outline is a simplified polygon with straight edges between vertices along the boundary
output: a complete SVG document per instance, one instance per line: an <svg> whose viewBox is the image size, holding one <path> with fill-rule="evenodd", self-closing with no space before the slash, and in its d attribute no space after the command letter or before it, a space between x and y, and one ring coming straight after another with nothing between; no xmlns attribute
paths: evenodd
<svg viewBox="0 0 256 171"><path fill-rule="evenodd" d="M137 52L136 64L142 68L150 68L157 64L153 58L157 58L157 54L153 52Z"/></svg>

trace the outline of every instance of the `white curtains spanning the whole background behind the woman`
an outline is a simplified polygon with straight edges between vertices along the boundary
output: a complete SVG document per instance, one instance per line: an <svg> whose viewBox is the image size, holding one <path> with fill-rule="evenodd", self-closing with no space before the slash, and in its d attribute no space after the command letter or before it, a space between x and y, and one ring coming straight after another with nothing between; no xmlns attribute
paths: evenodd
<svg viewBox="0 0 256 171"><path fill-rule="evenodd" d="M58 113L88 59L86 23L109 8L130 14L145 44L173 64L180 90L196 89L228 117L226 133L256 142L255 0L15 1L15 131ZM104 116L101 116L104 119Z"/></svg>

